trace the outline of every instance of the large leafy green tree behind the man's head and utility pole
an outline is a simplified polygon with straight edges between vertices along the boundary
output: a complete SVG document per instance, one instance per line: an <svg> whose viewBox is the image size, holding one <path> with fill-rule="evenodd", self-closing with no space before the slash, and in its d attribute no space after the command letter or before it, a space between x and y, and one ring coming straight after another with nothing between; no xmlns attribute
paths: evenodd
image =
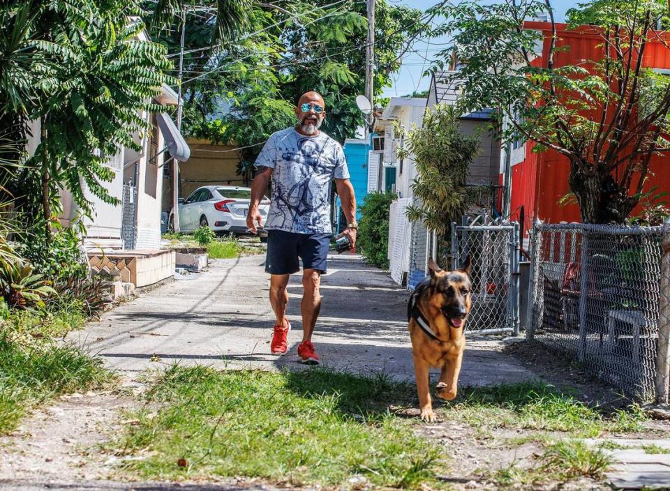
<svg viewBox="0 0 670 491"><path fill-rule="evenodd" d="M297 97L316 90L327 105L323 129L340 142L352 136L363 122L355 96L364 92L365 5L350 0L289 1L281 8L259 3L249 8L247 20L244 36L204 56L209 35L197 34L202 21L187 15L183 89L188 133L248 147L241 159L253 162L271 133L295 123ZM380 0L375 26L379 95L398 70L401 52L426 31L426 17ZM191 32L200 37L190 37ZM172 34L170 52L177 52L177 40Z"/></svg>

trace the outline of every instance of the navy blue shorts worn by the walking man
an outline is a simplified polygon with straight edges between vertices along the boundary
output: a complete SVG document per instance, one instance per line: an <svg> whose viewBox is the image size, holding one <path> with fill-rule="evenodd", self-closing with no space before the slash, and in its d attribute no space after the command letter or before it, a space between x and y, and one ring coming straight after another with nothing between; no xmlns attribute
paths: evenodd
<svg viewBox="0 0 670 491"><path fill-rule="evenodd" d="M326 272L326 259L330 248L331 234L295 234L283 230L267 231L267 255L265 272L272 275L287 275L303 269Z"/></svg>

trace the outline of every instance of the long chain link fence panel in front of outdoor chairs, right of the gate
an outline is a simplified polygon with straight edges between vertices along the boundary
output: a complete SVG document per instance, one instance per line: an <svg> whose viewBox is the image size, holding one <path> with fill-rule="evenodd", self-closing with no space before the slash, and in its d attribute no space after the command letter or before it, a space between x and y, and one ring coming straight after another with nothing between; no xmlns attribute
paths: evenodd
<svg viewBox="0 0 670 491"><path fill-rule="evenodd" d="M667 335L667 320L659 324L662 235L663 227L536 222L528 340L633 397L653 398L660 326ZM667 378L664 387L667 398Z"/></svg>

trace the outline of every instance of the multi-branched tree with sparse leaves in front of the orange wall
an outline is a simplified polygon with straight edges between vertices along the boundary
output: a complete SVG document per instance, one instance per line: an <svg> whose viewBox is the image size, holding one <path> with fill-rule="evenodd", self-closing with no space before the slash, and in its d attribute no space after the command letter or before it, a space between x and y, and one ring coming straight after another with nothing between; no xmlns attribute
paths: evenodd
<svg viewBox="0 0 670 491"><path fill-rule="evenodd" d="M535 151L553 149L569 160L569 188L584 222L625 222L643 197L652 156L670 151L668 77L643 68L653 29L667 25L668 4L657 0L595 0L569 10L570 27L600 38L598 59L561 65L549 0L480 3L437 8L447 22L435 33L454 36L440 54L462 61L459 107L496 109L509 125L505 141L530 139ZM549 12L553 35L537 61L542 32L526 19ZM667 41L662 41L667 45Z"/></svg>

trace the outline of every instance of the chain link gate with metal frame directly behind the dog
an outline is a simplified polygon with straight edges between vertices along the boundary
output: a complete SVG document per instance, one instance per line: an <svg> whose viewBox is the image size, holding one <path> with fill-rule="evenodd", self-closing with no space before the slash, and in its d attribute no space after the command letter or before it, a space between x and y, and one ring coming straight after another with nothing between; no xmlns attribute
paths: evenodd
<svg viewBox="0 0 670 491"><path fill-rule="evenodd" d="M519 224L452 223L452 269L470 256L468 331L519 335Z"/></svg>

